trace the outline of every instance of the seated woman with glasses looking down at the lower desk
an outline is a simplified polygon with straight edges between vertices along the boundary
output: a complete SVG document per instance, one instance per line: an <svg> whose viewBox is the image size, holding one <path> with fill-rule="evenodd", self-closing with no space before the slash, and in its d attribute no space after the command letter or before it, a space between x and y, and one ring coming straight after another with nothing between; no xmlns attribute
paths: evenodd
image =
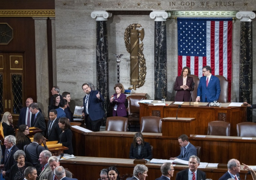
<svg viewBox="0 0 256 180"><path fill-rule="evenodd" d="M143 139L141 132L134 134L133 142L131 143L130 159L152 159L152 150L150 143L147 143Z"/></svg>

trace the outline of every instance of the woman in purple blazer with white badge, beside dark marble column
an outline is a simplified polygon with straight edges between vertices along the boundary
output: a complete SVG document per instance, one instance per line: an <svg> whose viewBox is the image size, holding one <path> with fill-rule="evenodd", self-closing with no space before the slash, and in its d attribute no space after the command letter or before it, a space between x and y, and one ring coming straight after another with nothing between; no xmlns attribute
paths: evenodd
<svg viewBox="0 0 256 180"><path fill-rule="evenodd" d="M116 93L110 98L110 106L113 107L113 116L127 116L127 111L125 108L126 95L124 94L124 86L117 83L114 87Z"/></svg>

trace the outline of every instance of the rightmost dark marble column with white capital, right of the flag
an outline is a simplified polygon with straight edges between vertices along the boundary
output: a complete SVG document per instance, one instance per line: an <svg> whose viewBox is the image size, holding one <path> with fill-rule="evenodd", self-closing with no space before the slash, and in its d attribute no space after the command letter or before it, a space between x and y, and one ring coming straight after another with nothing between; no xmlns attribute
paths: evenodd
<svg viewBox="0 0 256 180"><path fill-rule="evenodd" d="M239 60L239 102L252 104L253 97L253 54L252 54L252 11L240 11L240 60ZM247 121L252 122L252 110L247 108Z"/></svg>

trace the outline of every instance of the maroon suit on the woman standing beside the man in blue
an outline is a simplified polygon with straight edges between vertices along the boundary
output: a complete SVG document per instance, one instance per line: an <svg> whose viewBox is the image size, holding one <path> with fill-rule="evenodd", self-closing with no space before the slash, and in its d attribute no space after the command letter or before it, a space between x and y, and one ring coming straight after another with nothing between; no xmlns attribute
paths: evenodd
<svg viewBox="0 0 256 180"><path fill-rule="evenodd" d="M181 86L183 85L183 77L177 76L174 84L174 90L177 91L174 100L180 101L180 102L189 102L190 99L190 91L192 90L192 83L193 83L193 77L187 77L187 83L186 85L189 87L189 89L181 89Z"/></svg>

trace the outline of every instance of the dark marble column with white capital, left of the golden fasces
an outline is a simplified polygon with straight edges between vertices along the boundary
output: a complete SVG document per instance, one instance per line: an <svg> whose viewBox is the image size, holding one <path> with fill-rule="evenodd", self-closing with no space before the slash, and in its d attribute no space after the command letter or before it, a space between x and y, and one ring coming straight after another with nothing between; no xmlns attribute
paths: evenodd
<svg viewBox="0 0 256 180"><path fill-rule="evenodd" d="M112 14L106 11L94 11L92 18L96 18L96 83L97 90L105 98L102 103L105 114L109 113L109 51L108 51L108 28L106 21ZM105 120L103 122L105 125Z"/></svg>

